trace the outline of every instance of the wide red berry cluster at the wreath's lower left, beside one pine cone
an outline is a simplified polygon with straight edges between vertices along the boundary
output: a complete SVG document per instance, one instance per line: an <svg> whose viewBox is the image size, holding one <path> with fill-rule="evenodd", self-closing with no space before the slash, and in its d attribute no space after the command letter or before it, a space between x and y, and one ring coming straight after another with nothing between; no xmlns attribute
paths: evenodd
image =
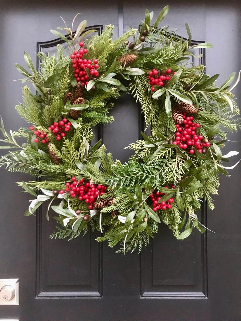
<svg viewBox="0 0 241 321"><path fill-rule="evenodd" d="M99 194L103 195L107 189L104 185L90 184L90 180L88 182L84 182L84 179L81 179L77 182L76 177L72 177L73 183L67 182L65 191L59 191L59 194L64 194L64 192L69 192L72 197L78 197L80 201L83 199L85 203L89 204L89 209L92 210L94 207L94 202L97 200Z"/></svg>

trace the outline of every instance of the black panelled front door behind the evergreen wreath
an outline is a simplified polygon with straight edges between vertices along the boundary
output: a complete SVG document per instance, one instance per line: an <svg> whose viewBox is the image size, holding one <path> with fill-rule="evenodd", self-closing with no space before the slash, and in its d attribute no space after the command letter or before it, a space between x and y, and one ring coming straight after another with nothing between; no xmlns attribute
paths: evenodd
<svg viewBox="0 0 241 321"><path fill-rule="evenodd" d="M209 74L221 70L220 84L231 71L238 71L240 57L239 5L224 1L190 4L170 1L165 24L176 26L185 37L184 21L192 26L193 38L209 41L206 52ZM129 25L138 27L146 7L157 14L164 3L155 1L11 1L1 3L1 115L6 129L17 130L26 123L14 106L21 101L21 82L14 63L24 65L23 51L32 57L38 50L55 51L49 29L56 29L60 15L69 23L77 12L88 26L101 30L115 26L114 36ZM225 22L225 23L224 23ZM95 27L96 28L96 27ZM50 42L48 42L50 41ZM224 45L225 44L225 45ZM195 61L194 61L195 63ZM205 62L203 62L205 63ZM238 86L237 86L238 87ZM236 87L237 100L240 94ZM124 150L140 137L140 109L135 100L122 96L112 110L115 122L103 126L103 143L114 158L129 158ZM240 132L228 139L240 141ZM239 149L233 143L234 150ZM236 171L237 173L237 171ZM125 256L115 248L99 244L96 235L71 241L49 239L55 221L38 213L24 217L29 196L19 194L15 182L28 180L18 173L0 171L0 278L19 278L19 306L0 306L0 319L21 321L64 320L240 320L240 176L221 178L214 212L201 211L208 231L184 241L173 238L161 225L147 250ZM228 187L228 189L227 189ZM44 212L43 212L44 213ZM54 214L52 215L54 216Z"/></svg>

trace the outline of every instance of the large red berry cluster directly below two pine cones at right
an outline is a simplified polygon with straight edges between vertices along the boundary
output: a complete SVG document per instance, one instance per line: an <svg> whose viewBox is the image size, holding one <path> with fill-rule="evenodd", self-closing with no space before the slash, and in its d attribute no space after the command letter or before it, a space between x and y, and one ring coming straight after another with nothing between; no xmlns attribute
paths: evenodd
<svg viewBox="0 0 241 321"><path fill-rule="evenodd" d="M207 138L202 137L202 135L196 134L196 128L200 127L199 123L193 123L193 117L187 116L183 113L183 124L176 124L177 131L175 133L175 141L173 144L179 145L180 148L189 148L190 154L194 154L196 148L200 153L203 152L202 148L205 146L210 146L210 142Z"/></svg>

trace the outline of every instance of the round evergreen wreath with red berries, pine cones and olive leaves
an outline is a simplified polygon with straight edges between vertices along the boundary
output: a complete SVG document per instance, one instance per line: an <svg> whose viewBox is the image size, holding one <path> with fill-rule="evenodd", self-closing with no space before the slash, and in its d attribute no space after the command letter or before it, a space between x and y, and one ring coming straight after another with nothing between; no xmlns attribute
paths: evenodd
<svg viewBox="0 0 241 321"><path fill-rule="evenodd" d="M31 82L37 95L23 87L23 103L16 106L29 128L8 134L1 119L1 142L8 143L1 148L9 149L1 166L38 178L17 184L35 197L26 216L46 201L47 219L50 208L58 214L51 238L84 236L90 226L103 233L97 241L119 243L118 252L125 252L146 247L161 221L177 239L205 231L195 211L201 199L214 208L219 174L229 175L226 169L237 165L222 164L237 152L222 155L221 148L227 132L237 130L231 90L240 73L231 88L235 73L218 87L219 74L210 77L204 65L189 63L193 48L212 46L192 45L187 23L187 39L159 27L168 9L153 23L153 12L146 10L139 30L130 28L115 40L112 25L91 35L96 30L85 31L83 21L73 32L77 14L72 28L58 28L67 36L51 30L66 41L67 54L58 45L54 56L38 53L40 70L26 52L29 71L16 64L22 83ZM124 164L112 159L101 140L91 144L93 126L114 120L108 111L122 92L136 98L151 128L151 135L142 133L128 146L134 155ZM22 146L19 137L26 141Z"/></svg>

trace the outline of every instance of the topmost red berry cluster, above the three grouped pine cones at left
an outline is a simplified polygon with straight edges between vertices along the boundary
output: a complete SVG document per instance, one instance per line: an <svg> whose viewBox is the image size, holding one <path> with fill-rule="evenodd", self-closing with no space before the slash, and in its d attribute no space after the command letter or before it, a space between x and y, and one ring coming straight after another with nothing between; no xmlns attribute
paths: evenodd
<svg viewBox="0 0 241 321"><path fill-rule="evenodd" d="M79 51L75 50L71 55L70 58L72 59L72 66L75 70L75 78L76 81L79 82L81 81L83 86L87 85L89 80L89 76L87 75L86 71L85 71L85 67L89 69L90 74L93 77L98 77L99 73L98 73L98 59L94 59L93 61L91 59L87 60L87 59L82 59L84 54L87 54L87 49L82 48L84 47L84 42L80 42L80 49ZM94 65L93 65L94 64Z"/></svg>

